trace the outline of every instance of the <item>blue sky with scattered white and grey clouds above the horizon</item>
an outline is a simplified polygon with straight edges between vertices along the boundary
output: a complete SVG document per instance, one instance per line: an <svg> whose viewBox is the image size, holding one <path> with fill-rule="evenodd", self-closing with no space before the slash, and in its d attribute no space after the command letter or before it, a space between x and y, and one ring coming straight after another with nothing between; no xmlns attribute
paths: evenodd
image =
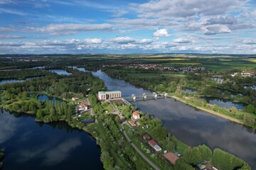
<svg viewBox="0 0 256 170"><path fill-rule="evenodd" d="M0 54L256 54L256 0L0 0Z"/></svg>

